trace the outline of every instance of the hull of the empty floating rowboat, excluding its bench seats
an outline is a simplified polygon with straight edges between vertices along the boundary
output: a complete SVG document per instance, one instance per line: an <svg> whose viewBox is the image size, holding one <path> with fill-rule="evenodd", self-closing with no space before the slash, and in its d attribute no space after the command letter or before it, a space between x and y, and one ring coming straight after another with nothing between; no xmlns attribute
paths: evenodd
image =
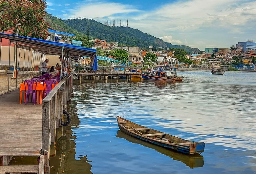
<svg viewBox="0 0 256 174"><path fill-rule="evenodd" d="M124 122L126 122L126 123L124 123ZM117 124L118 124L120 131L122 131L123 133L130 135L132 137L135 137L137 139L140 139L142 141L154 144L154 145L158 145L158 146L161 146L161 147L164 147L167 149L175 150L175 151L178 151L178 152L181 152L184 154L195 154L195 153L201 153L204 151L205 144L203 142L198 143L198 142L184 140L184 139L181 139L181 138L148 128L149 129L149 130L147 130L147 131L149 131L148 132L149 134L147 134L148 136L149 135L152 136L152 133L153 134L156 134L156 133L157 134L165 134L164 137L166 137L168 140L172 140L172 141L176 142L176 143L173 143L173 142L169 143L166 141L166 143L165 143L165 142L162 142L162 140L161 141L155 140L151 137L145 136L145 134L140 135L139 133L136 133L135 131L130 130L131 127L133 127L133 129L134 129L134 127L142 128L142 129L147 128L147 127L140 126L136 123L133 123L129 120L123 119L119 116L117 116ZM125 126L127 126L127 128Z"/></svg>

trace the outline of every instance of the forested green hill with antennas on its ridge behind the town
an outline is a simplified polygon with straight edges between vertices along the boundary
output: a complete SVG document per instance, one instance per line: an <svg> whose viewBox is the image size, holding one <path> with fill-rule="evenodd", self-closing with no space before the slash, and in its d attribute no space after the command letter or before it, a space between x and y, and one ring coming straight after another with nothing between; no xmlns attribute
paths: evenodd
<svg viewBox="0 0 256 174"><path fill-rule="evenodd" d="M187 52L200 52L198 48L185 45L172 45L150 34L143 33L130 27L108 27L92 19L67 19L61 20L51 14L47 14L45 20L53 29L62 32L74 33L76 36L87 36L89 39L102 39L107 42L118 42L122 45L148 48L150 45L163 48L184 48Z"/></svg>

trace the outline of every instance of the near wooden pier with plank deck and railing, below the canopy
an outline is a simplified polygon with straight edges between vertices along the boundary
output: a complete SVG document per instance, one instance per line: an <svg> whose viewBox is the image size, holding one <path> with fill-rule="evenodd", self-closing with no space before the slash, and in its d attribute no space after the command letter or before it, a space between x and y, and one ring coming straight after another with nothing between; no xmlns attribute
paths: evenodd
<svg viewBox="0 0 256 174"><path fill-rule="evenodd" d="M0 95L0 174L49 172L50 145L72 92L72 74L53 88L42 105L19 104L19 89ZM38 165L8 165L13 156L35 156Z"/></svg>

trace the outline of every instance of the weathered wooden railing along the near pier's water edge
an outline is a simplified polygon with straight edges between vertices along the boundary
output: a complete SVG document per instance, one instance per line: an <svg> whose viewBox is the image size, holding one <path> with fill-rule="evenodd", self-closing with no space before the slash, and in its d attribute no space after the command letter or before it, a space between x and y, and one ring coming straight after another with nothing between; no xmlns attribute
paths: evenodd
<svg viewBox="0 0 256 174"><path fill-rule="evenodd" d="M45 156L45 166L49 166L49 149L55 141L56 128L59 128L63 110L72 92L72 73L61 80L56 87L43 99L42 151Z"/></svg>

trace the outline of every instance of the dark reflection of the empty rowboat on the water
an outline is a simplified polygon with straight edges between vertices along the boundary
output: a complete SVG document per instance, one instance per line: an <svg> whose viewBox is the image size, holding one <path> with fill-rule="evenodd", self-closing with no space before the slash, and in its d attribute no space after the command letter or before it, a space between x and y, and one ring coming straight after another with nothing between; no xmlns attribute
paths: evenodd
<svg viewBox="0 0 256 174"><path fill-rule="evenodd" d="M178 152L175 152L172 150L165 149L163 147L159 147L157 145L152 145L150 143L138 140L134 137L126 135L125 133L121 132L120 130L117 131L117 137L124 138L127 141L132 142L132 143L140 144L145 147L155 149L156 151L160 152L161 154L171 157L172 159L174 159L176 161L181 161L182 163L186 164L190 168L203 167L203 156L200 154L186 155L186 154L178 153Z"/></svg>

